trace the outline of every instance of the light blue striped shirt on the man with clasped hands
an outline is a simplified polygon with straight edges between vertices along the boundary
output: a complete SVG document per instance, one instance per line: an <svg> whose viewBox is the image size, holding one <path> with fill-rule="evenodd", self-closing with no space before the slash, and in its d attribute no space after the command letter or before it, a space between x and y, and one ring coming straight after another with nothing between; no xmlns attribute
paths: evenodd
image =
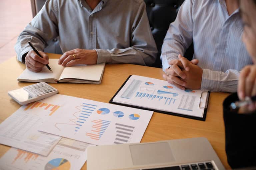
<svg viewBox="0 0 256 170"><path fill-rule="evenodd" d="M229 16L225 0L185 0L164 39L163 70L193 42L193 58L203 69L201 89L235 92L239 71L252 64L242 32L238 9Z"/></svg>

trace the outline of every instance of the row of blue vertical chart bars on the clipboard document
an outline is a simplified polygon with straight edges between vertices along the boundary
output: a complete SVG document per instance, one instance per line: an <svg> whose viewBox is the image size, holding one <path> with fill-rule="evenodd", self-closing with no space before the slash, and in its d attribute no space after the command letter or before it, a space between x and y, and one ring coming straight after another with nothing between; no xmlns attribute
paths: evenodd
<svg viewBox="0 0 256 170"><path fill-rule="evenodd" d="M148 93L142 93L142 92L136 92L135 97L139 97L140 99L164 101L165 105L174 104L176 101L176 99L174 99L174 98L164 97L164 96L159 96L159 95L154 95L154 94L148 94Z"/></svg>

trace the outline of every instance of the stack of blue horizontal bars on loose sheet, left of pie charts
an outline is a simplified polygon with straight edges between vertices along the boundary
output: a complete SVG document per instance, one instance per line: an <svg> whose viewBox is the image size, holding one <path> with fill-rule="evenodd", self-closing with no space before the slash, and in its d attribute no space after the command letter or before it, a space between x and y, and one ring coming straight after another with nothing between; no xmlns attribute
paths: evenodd
<svg viewBox="0 0 256 170"><path fill-rule="evenodd" d="M96 110L97 105L92 105L88 103L82 104L82 110L80 111L80 115L76 121L75 132L77 132L80 127L85 123L85 121L89 118L89 116Z"/></svg>

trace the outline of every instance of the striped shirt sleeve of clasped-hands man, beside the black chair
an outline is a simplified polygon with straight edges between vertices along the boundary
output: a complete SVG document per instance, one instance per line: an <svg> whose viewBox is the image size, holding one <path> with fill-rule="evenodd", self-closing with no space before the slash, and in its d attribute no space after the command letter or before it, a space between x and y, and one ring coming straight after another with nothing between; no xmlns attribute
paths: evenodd
<svg viewBox="0 0 256 170"><path fill-rule="evenodd" d="M179 54L184 55L193 41L192 8L193 0L185 0L175 21L170 24L162 46L161 60L164 71L170 66L168 62L178 59Z"/></svg>

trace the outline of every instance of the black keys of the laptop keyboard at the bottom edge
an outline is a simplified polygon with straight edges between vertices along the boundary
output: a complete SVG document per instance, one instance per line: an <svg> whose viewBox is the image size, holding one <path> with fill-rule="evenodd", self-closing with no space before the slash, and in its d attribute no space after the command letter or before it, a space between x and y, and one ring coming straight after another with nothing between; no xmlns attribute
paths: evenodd
<svg viewBox="0 0 256 170"><path fill-rule="evenodd" d="M211 162L191 163L162 168L138 169L138 170L215 170Z"/></svg>

